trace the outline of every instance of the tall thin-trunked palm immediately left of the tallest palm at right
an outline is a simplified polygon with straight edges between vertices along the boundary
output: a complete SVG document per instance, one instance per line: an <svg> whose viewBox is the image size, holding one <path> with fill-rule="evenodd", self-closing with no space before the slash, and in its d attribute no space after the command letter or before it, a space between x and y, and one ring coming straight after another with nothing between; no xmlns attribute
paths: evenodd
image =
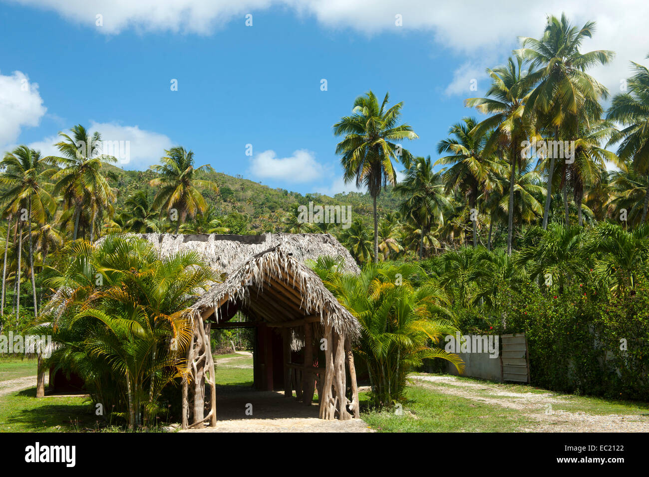
<svg viewBox="0 0 649 477"><path fill-rule="evenodd" d="M520 164L522 157L519 147L522 138L526 138L526 127L523 121L524 106L530 96L531 87L523 80L528 77L533 69L522 71L522 58L520 56L509 58L507 66L500 66L494 69L487 69L491 77L491 87L484 98L469 98L465 101L466 106L472 106L484 114L491 114L476 126L478 136L484 131L493 129L494 132L485 144L485 152L496 151L502 146L509 155L509 206L508 210L514 208L514 180L516 177L516 166ZM491 225L490 225L491 230ZM507 254L511 255L511 237L513 234L513 216L509 214L507 228ZM491 242L491 241L490 241Z"/></svg>

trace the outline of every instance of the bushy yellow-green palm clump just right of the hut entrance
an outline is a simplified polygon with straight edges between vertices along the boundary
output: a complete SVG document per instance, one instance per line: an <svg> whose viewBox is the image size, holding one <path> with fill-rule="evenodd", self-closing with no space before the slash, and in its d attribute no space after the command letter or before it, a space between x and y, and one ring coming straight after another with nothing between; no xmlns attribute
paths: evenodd
<svg viewBox="0 0 649 477"><path fill-rule="evenodd" d="M406 376L424 359L441 358L464 369L459 356L430 346L458 329L449 321L444 290L432 281L415 286L413 278L425 275L418 265L369 264L360 276L326 266L315 271L361 325L354 351L365 361L377 408L391 407L403 396Z"/></svg>

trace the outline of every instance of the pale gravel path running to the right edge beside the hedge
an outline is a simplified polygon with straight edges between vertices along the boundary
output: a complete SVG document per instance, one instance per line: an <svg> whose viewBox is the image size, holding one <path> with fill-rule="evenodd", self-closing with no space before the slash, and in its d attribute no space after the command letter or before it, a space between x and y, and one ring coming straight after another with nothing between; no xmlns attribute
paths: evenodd
<svg viewBox="0 0 649 477"><path fill-rule="evenodd" d="M564 411L557 406L574 406L575 402L556 397L554 393L520 393L503 391L497 384L459 380L455 376L415 376L417 385L435 392L469 398L485 404L522 411L526 417L538 421L533 428L522 432L649 432L649 413L644 415L594 415L580 411ZM554 406L553 406L554 404Z"/></svg>

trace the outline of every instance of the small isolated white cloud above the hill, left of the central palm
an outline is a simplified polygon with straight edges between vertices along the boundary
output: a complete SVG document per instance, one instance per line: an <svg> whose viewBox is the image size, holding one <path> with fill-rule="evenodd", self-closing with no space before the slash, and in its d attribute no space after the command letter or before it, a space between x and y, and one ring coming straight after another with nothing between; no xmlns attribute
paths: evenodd
<svg viewBox="0 0 649 477"><path fill-rule="evenodd" d="M292 156L278 158L275 151L263 151L251 159L252 177L283 180L290 183L321 181L330 175L324 165L315 160L311 151L298 149Z"/></svg>

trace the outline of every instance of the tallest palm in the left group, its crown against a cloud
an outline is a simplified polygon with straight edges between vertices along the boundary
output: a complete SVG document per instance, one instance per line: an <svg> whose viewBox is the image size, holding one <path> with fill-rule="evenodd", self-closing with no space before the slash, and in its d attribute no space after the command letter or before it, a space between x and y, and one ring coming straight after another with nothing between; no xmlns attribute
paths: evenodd
<svg viewBox="0 0 649 477"><path fill-rule="evenodd" d="M44 160L62 165L62 169L52 176L56 180L53 195L62 194L64 210L74 214L72 239L79 234L79 221L83 210L90 212L90 240L94 240L94 223L101 210L115 200L108 181L101 169L110 162L116 162L113 156L101 154L101 134L91 135L82 125L70 129L71 136L59 132L64 138L55 144L62 156L48 156ZM68 215L65 216L66 218Z"/></svg>

